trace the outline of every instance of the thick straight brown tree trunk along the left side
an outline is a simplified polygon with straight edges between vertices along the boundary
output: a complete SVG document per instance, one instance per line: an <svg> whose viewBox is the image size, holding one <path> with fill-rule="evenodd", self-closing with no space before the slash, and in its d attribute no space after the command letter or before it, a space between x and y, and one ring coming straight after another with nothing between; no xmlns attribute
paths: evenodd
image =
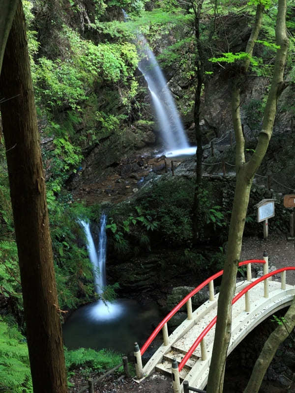
<svg viewBox="0 0 295 393"><path fill-rule="evenodd" d="M67 392L46 188L19 1L0 76L3 134L34 393Z"/></svg>

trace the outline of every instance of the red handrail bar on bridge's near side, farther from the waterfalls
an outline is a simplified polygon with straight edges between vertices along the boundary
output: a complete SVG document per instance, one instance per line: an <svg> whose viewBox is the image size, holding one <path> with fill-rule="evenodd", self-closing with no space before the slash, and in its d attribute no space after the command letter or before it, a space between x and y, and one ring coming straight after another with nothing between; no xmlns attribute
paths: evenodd
<svg viewBox="0 0 295 393"><path fill-rule="evenodd" d="M260 277L259 279L251 282L249 285L247 285L244 289L242 289L236 296L234 297L232 304L235 304L238 299L240 299L246 292L248 292L249 289L253 288L253 286L257 285L259 282L264 281L268 279L271 276L274 276L278 273L284 272L285 270L295 270L294 266L289 266L289 267L283 267L281 269L275 270L273 272L267 273L265 276ZM188 359L191 357L197 346L200 344L200 342L203 340L203 338L207 335L209 330L215 325L217 320L217 316L215 316L212 321L207 325L207 327L203 330L203 332L200 334L200 336L196 339L196 341L193 343L193 345L190 347L190 349L187 351L186 355L182 359L182 361L178 365L178 370L182 370Z"/></svg>

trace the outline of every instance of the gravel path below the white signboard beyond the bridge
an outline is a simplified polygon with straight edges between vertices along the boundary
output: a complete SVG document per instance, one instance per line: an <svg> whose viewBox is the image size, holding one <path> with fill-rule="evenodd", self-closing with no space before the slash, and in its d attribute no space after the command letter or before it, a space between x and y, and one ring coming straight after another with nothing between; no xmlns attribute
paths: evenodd
<svg viewBox="0 0 295 393"><path fill-rule="evenodd" d="M285 234L269 234L264 240L259 237L244 237L242 242L241 260L262 259L268 253L269 266L277 269L295 266L294 240L287 240ZM287 272L287 283L295 285L295 271Z"/></svg>

